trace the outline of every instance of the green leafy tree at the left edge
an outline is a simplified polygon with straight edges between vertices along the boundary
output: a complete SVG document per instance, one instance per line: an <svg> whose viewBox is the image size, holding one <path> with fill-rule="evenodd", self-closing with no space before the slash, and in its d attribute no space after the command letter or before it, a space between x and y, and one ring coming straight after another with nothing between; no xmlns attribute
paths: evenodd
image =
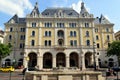
<svg viewBox="0 0 120 80"><path fill-rule="evenodd" d="M11 50L11 44L2 44L0 43L0 62L2 60L2 58L8 56L10 54Z"/></svg>

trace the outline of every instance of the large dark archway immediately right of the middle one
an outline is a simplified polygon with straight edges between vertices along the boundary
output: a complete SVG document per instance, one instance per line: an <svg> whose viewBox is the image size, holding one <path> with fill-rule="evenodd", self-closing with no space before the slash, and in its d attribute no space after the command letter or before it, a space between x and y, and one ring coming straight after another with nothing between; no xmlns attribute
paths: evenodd
<svg viewBox="0 0 120 80"><path fill-rule="evenodd" d="M77 53L70 54L70 67L78 67L78 54Z"/></svg>

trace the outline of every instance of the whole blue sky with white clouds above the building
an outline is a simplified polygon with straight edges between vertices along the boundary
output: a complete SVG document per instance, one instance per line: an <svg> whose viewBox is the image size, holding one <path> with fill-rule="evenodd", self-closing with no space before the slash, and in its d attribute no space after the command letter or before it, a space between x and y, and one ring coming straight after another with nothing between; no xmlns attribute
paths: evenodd
<svg viewBox="0 0 120 80"><path fill-rule="evenodd" d="M114 32L120 31L120 0L0 0L0 29L4 30L4 23L15 14L22 18L31 13L36 2L40 12L50 7L69 7L78 13L84 2L95 18L104 15L114 24Z"/></svg>

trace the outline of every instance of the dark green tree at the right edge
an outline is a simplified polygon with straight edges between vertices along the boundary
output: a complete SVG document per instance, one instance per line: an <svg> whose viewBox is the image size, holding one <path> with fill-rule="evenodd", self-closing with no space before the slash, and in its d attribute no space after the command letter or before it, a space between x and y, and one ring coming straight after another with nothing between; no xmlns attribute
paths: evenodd
<svg viewBox="0 0 120 80"><path fill-rule="evenodd" d="M116 55L120 65L120 41L113 41L107 49L107 56Z"/></svg>

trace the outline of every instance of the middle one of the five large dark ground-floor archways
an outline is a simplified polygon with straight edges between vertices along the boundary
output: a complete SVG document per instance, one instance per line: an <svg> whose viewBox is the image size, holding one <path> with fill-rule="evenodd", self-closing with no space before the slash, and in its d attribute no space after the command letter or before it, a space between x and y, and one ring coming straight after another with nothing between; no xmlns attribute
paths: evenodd
<svg viewBox="0 0 120 80"><path fill-rule="evenodd" d="M58 53L57 57L56 57L57 67L59 67L59 66L65 67L66 66L65 61L66 61L65 54L64 53Z"/></svg>

